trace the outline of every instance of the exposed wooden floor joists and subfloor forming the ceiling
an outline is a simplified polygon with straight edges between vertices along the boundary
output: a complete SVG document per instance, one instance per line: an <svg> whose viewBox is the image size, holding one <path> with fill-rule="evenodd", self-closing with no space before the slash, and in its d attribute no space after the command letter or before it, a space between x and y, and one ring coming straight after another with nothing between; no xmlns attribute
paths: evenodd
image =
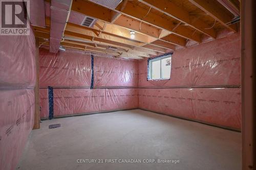
<svg viewBox="0 0 256 170"><path fill-rule="evenodd" d="M159 56L186 47L188 41L201 43L203 36L215 39L222 29L236 32L234 19L238 16L223 6L222 1L123 0L119 4L108 4L73 0L72 17L63 30L60 44L76 50L133 59ZM238 10L239 1L234 1ZM46 3L51 6L50 0ZM84 25L88 23L87 18L93 20L88 26ZM33 28L44 45L51 41L50 22L48 16L46 28Z"/></svg>

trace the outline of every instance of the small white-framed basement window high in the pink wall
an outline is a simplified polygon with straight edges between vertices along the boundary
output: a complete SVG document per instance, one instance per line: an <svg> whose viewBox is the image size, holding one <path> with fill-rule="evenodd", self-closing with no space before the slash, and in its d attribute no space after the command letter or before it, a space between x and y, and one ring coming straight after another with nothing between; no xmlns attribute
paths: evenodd
<svg viewBox="0 0 256 170"><path fill-rule="evenodd" d="M172 54L147 60L147 80L170 79Z"/></svg>

